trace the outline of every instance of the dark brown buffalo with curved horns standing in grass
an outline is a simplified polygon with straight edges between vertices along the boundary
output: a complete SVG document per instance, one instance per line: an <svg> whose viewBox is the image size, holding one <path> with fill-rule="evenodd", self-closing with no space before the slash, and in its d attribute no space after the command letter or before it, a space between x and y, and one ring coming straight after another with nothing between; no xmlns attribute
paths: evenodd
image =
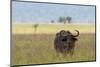
<svg viewBox="0 0 100 67"><path fill-rule="evenodd" d="M75 42L79 36L79 31L76 35L73 35L70 31L61 30L60 32L56 33L56 37L54 40L54 48L57 52L65 54L73 55Z"/></svg>

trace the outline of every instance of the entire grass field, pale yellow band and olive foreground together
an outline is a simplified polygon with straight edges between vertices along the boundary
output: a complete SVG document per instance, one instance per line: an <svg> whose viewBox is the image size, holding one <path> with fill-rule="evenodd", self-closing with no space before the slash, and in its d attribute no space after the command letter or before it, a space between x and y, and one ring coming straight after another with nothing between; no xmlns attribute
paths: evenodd
<svg viewBox="0 0 100 67"><path fill-rule="evenodd" d="M72 57L57 56L53 42L55 33L61 29L80 31ZM29 25L12 26L12 65L44 64L75 61L94 61L95 26L94 25L47 25L42 24L34 34Z"/></svg>

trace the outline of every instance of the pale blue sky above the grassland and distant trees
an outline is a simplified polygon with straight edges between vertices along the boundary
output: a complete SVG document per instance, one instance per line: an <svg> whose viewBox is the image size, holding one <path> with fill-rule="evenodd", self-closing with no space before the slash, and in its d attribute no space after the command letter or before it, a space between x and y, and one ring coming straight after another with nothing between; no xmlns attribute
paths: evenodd
<svg viewBox="0 0 100 67"><path fill-rule="evenodd" d="M12 21L17 23L48 23L60 16L72 17L72 22L94 23L95 6L12 2Z"/></svg>

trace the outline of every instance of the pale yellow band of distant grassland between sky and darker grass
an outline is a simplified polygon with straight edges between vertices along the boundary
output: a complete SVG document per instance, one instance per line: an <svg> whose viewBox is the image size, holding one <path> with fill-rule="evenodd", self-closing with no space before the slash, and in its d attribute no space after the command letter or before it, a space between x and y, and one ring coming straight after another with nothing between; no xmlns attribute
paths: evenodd
<svg viewBox="0 0 100 67"><path fill-rule="evenodd" d="M80 33L94 33L94 24L40 24L37 28L37 34L55 34L60 30L70 30L74 32L75 29L79 30ZM34 24L13 24L13 34L33 34Z"/></svg>

